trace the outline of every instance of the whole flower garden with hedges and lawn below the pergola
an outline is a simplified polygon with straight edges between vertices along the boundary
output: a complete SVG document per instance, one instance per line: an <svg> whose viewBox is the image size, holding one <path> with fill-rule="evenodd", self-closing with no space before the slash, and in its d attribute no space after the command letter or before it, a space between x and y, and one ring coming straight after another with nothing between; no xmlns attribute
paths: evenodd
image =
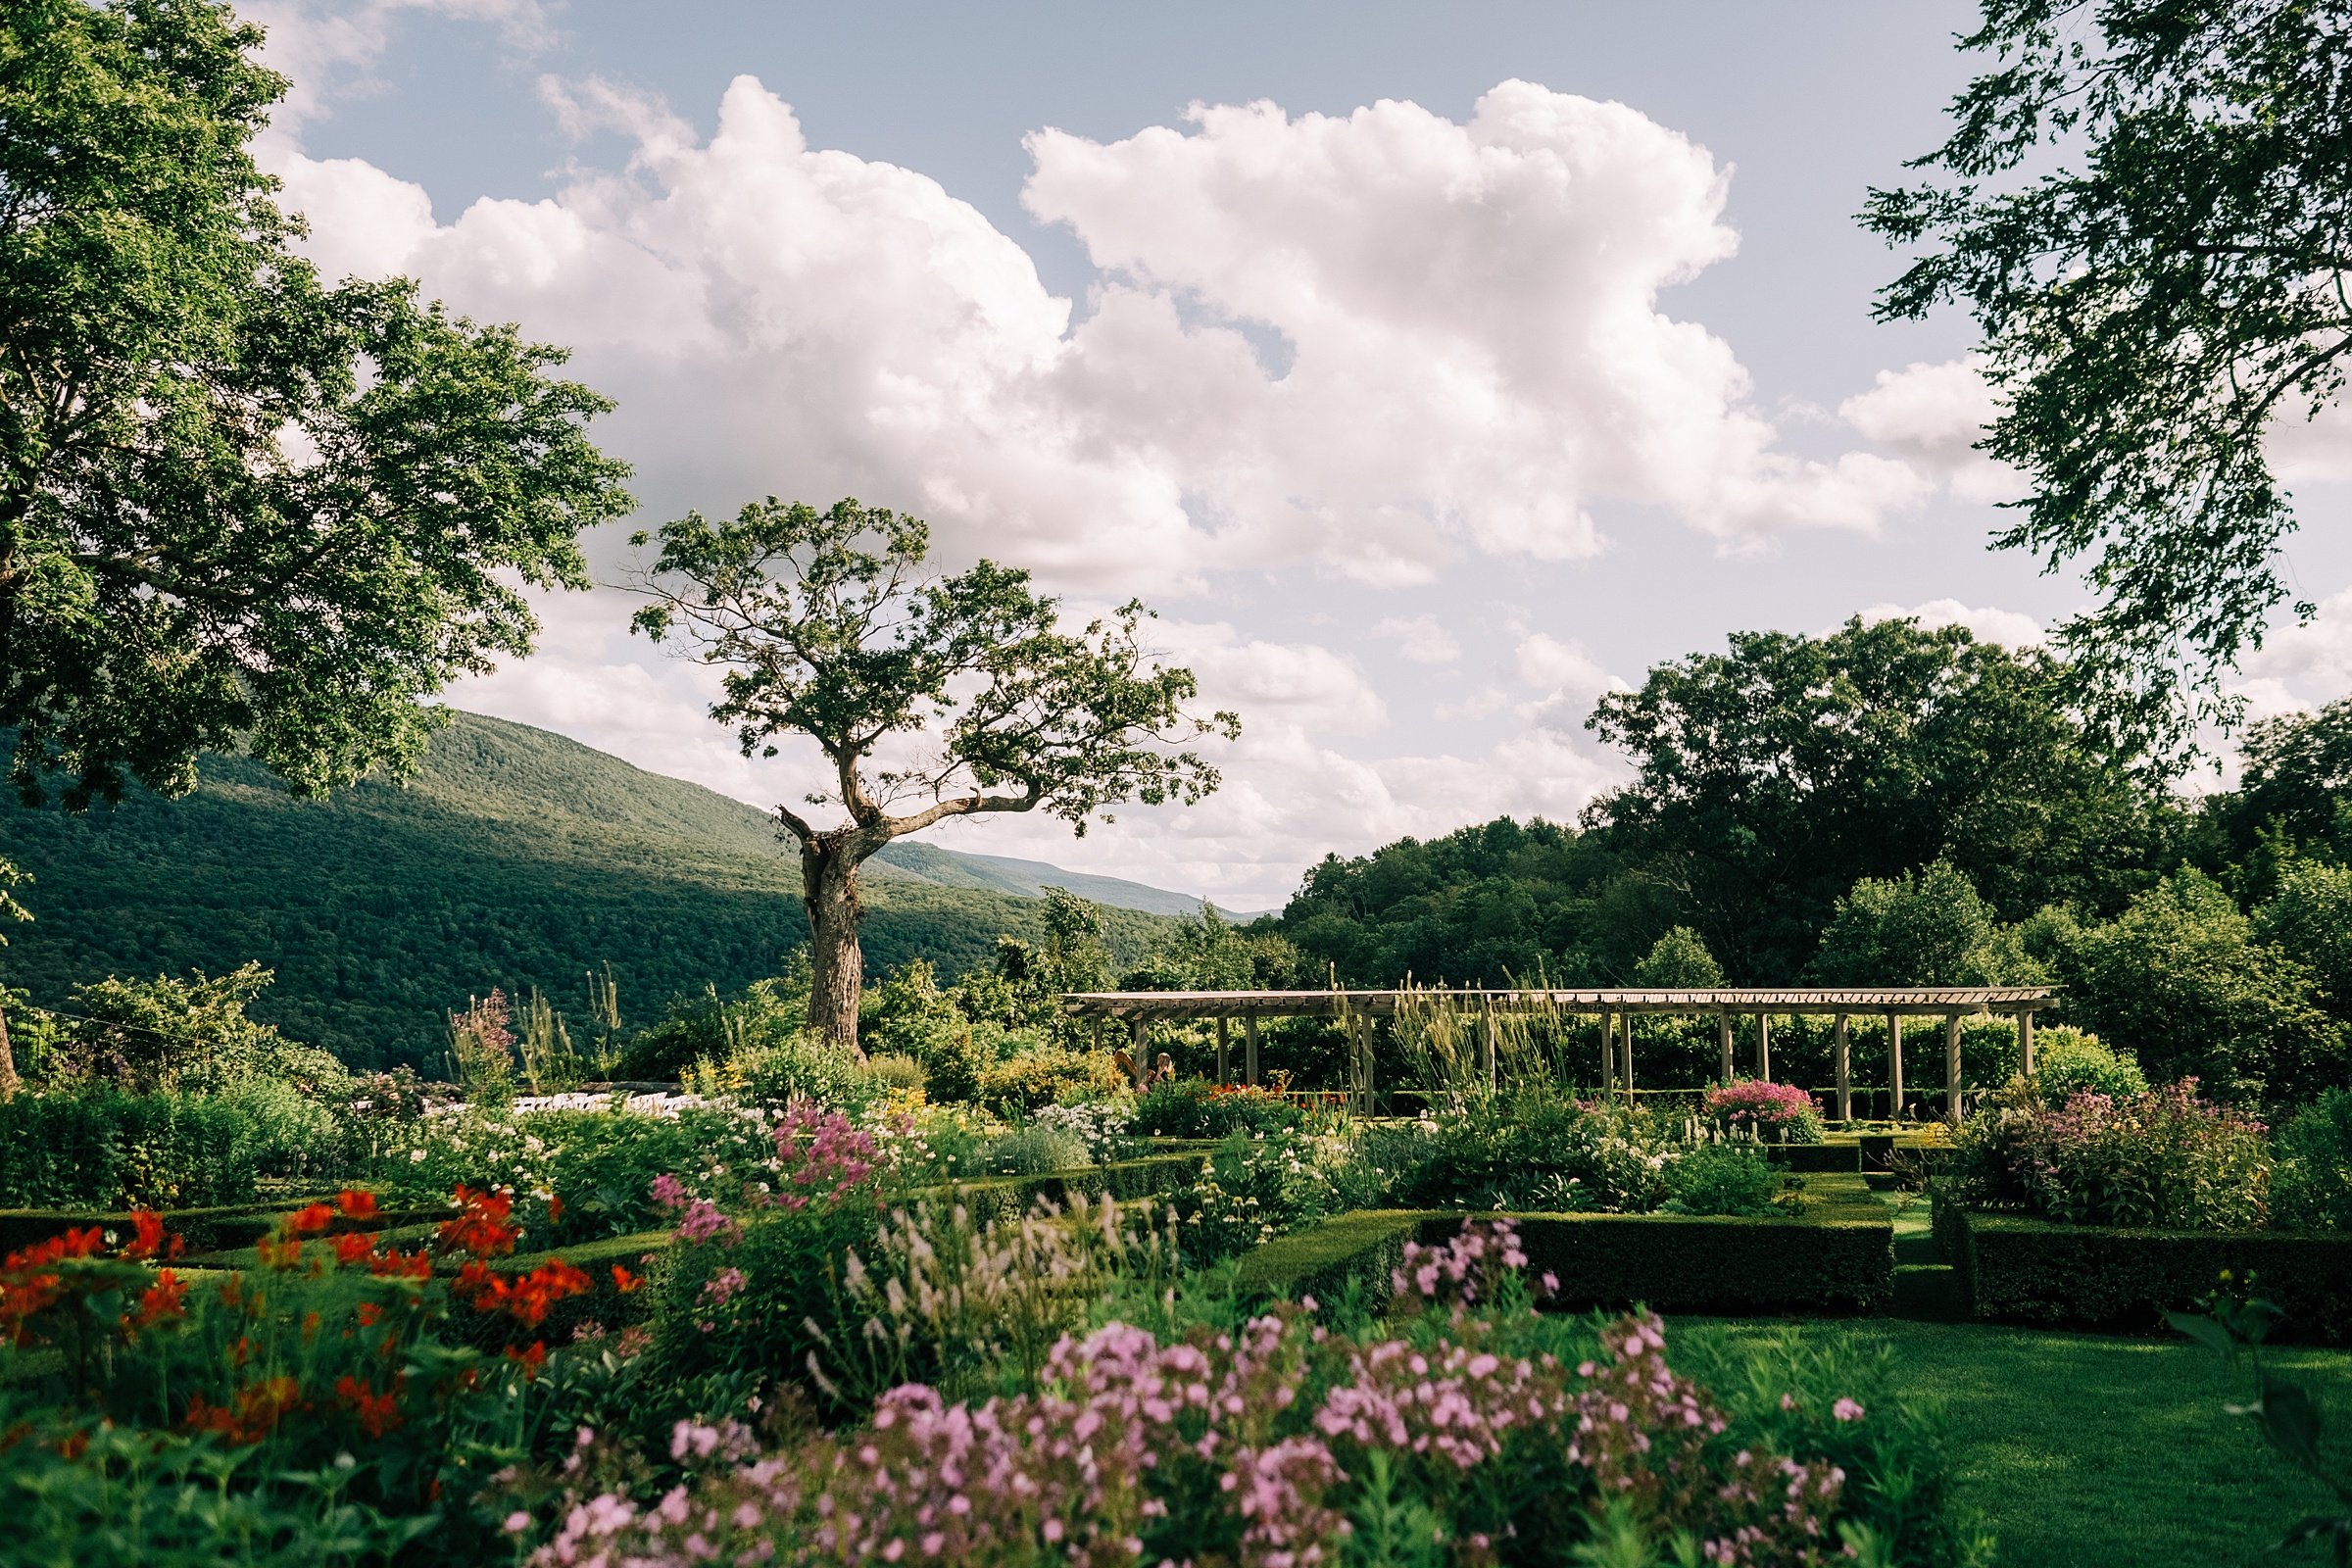
<svg viewBox="0 0 2352 1568"><path fill-rule="evenodd" d="M1404 1112L1136 1091L1035 954L891 978L863 1058L807 971L579 1046L494 994L421 1081L259 980L16 1030L16 1561L2185 1563L2197 1514L2117 1507L2159 1453L2244 1552L2340 1474L2343 1091L2272 1128L2046 1030L1957 1128L1825 1124L1576 1088L1541 1009L1463 1074L1430 992ZM2310 1394L2305 1450L2190 1333ZM2086 1387L2112 1448L2060 1443Z"/></svg>

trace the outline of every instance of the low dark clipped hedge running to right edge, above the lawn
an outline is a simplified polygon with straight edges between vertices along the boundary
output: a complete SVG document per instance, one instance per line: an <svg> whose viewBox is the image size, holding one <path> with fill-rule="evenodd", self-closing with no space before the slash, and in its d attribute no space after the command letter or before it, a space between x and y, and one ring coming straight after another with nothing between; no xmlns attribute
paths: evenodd
<svg viewBox="0 0 2352 1568"><path fill-rule="evenodd" d="M2230 1269L2279 1305L2277 1340L2352 1345L2352 1237L2060 1225L1938 1194L1936 1244L1969 1316L2150 1333Z"/></svg>

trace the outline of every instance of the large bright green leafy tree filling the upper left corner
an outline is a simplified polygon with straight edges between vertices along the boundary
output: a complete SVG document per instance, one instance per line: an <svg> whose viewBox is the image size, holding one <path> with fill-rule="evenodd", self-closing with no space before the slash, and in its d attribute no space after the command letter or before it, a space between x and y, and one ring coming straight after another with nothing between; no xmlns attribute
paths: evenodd
<svg viewBox="0 0 2352 1568"><path fill-rule="evenodd" d="M287 82L205 0L0 16L0 726L26 799L296 792L414 762L419 698L586 585L609 404L414 284L325 284L249 143Z"/></svg>

